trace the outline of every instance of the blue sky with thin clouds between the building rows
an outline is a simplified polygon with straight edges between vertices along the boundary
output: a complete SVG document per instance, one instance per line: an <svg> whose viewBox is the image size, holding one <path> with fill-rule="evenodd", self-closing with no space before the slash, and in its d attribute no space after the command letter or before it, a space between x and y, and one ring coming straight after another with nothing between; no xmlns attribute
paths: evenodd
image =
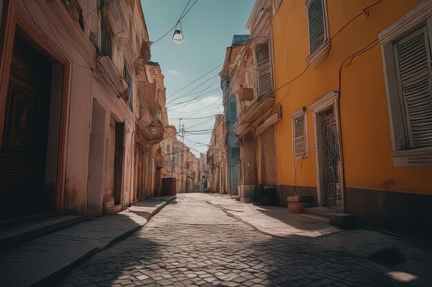
<svg viewBox="0 0 432 287"><path fill-rule="evenodd" d="M191 0L189 7L194 2ZM188 0L141 0L141 3L150 41L155 41L175 25ZM151 46L152 61L159 62L165 76L170 124L178 129L179 118L183 118L184 143L196 149L192 150L195 154L207 150L196 142L208 144L215 119L186 118L222 113L222 90L217 75L222 66L217 66L224 62L233 35L248 34L245 26L254 3L255 0L198 0L181 21L183 43L173 43L170 32ZM207 72L210 73L201 80L173 94Z"/></svg>

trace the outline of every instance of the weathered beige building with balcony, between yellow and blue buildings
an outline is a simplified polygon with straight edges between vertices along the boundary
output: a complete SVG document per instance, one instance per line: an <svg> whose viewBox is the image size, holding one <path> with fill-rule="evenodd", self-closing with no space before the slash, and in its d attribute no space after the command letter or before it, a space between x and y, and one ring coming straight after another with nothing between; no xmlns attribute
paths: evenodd
<svg viewBox="0 0 432 287"><path fill-rule="evenodd" d="M279 182L274 125L282 115L275 107L273 92L270 0L255 2L246 28L251 36L237 62L244 74L237 80L243 84L238 93L236 135L240 142L239 193L250 202L258 184L277 187Z"/></svg>

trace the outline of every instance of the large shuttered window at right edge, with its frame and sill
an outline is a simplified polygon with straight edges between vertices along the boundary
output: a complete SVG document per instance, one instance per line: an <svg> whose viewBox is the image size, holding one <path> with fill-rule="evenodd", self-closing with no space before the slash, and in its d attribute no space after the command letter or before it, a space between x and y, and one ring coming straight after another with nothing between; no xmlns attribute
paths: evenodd
<svg viewBox="0 0 432 287"><path fill-rule="evenodd" d="M432 8L419 6L379 35L396 167L432 165L432 22L422 17Z"/></svg>

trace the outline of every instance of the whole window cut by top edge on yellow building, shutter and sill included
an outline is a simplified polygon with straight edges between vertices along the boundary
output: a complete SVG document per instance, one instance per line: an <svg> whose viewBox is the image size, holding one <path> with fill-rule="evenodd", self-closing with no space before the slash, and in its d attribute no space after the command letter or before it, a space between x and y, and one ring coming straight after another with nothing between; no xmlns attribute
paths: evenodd
<svg viewBox="0 0 432 287"><path fill-rule="evenodd" d="M306 1L309 28L309 56L306 59L310 65L316 67L330 52L328 28L326 19L326 0Z"/></svg>

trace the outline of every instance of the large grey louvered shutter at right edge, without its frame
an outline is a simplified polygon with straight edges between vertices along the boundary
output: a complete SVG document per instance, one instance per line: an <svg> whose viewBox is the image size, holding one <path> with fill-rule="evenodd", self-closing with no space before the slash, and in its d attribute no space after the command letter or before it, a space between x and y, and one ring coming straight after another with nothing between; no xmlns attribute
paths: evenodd
<svg viewBox="0 0 432 287"><path fill-rule="evenodd" d="M411 148L432 145L431 50L426 26L394 43Z"/></svg>

